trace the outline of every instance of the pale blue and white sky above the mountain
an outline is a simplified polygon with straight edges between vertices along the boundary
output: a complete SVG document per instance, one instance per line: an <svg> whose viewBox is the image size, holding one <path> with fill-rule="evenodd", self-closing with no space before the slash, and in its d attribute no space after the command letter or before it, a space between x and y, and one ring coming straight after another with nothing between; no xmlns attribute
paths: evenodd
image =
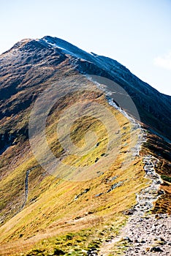
<svg viewBox="0 0 171 256"><path fill-rule="evenodd" d="M0 53L23 38L60 37L171 95L171 0L0 0L0 23Z"/></svg>

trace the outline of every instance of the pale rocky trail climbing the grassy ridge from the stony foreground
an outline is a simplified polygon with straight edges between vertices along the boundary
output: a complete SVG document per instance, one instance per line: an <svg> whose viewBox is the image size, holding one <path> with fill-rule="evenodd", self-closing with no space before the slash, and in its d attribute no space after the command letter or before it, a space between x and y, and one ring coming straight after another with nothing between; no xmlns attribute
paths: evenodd
<svg viewBox="0 0 171 256"><path fill-rule="evenodd" d="M132 122L134 129L141 129L137 145L134 147L134 156L140 155L140 149L142 143L145 140L145 131L140 127L132 117L128 116L121 108L119 108L112 99L108 99L110 105L123 113L129 121ZM163 195L163 191L159 189L161 184L161 178L156 173L155 167L159 163L159 159L156 159L152 155L147 155L143 158L145 178L149 180L149 186L142 189L137 194L137 205L132 209L132 217L123 227L119 236L105 241L99 252L92 252L88 255L116 256L113 252L115 245L123 249L123 255L171 255L171 218L167 214L150 215L148 212L153 208L153 203Z"/></svg>

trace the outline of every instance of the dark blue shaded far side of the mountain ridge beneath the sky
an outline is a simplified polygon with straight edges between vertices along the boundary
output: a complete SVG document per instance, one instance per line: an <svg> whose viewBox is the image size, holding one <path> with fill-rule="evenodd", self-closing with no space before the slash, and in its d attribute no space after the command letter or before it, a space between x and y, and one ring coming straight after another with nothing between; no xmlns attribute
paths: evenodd
<svg viewBox="0 0 171 256"><path fill-rule="evenodd" d="M32 49L33 52L36 48L40 51L47 48L49 50L55 50L59 56L65 56L65 58L67 58L67 55L72 56L74 59L71 60L71 63L73 67L78 68L79 72L88 75L102 75L104 78L109 78L115 83L118 83L132 97L140 113L142 122L148 124L152 129L156 129L156 132L159 134L167 136L167 139L171 138L171 97L153 89L153 87L137 78L129 69L118 63L118 61L104 56L94 56L63 39L49 36L42 37L42 39L24 39L18 42L14 46L15 48L11 48L6 53L9 53L13 49L17 50L18 44L20 45L19 49L21 51L23 49L23 52L27 48L28 50ZM118 95L113 94L112 97L117 102ZM122 104L123 106L121 107L125 108L124 102ZM156 104L158 105L157 108ZM126 110L129 113L131 112L129 109Z"/></svg>

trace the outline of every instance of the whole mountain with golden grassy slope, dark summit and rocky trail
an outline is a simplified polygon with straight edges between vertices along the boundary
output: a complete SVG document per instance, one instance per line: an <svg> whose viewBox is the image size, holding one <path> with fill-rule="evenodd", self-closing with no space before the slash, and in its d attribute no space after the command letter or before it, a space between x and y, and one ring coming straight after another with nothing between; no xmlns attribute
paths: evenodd
<svg viewBox="0 0 171 256"><path fill-rule="evenodd" d="M56 37L0 56L0 255L170 255L171 97Z"/></svg>

